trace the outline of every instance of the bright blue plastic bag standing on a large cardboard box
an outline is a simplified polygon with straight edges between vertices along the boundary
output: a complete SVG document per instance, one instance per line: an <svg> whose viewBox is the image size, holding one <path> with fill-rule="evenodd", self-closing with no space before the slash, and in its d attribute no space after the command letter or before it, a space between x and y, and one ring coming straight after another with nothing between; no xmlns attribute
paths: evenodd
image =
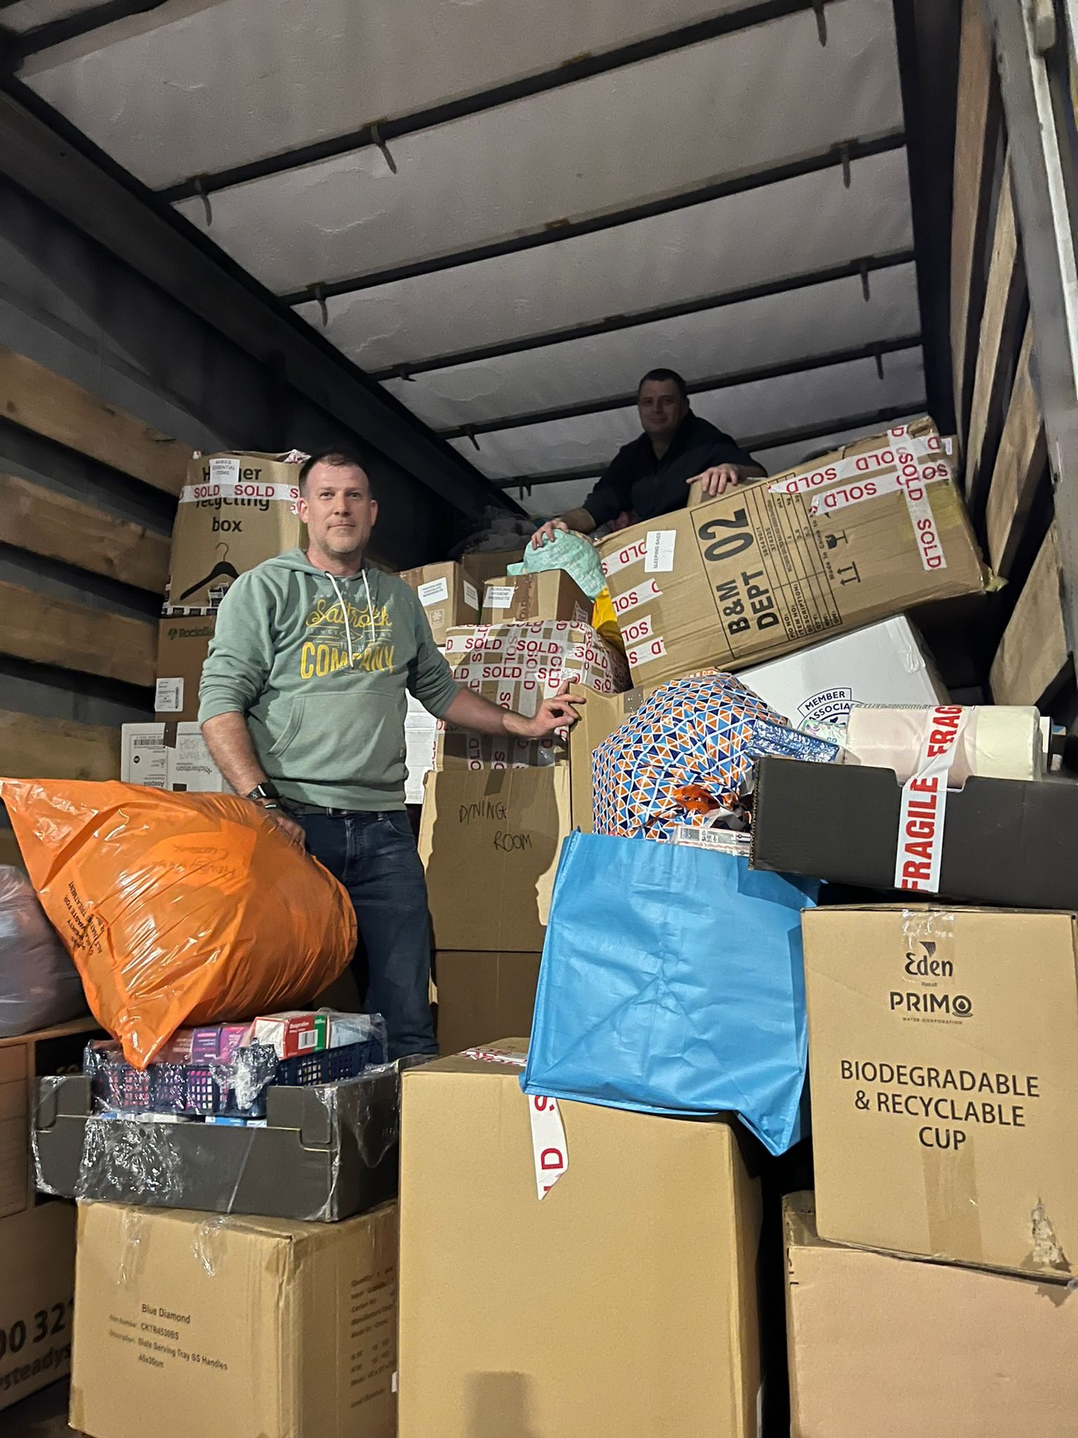
<svg viewBox="0 0 1078 1438"><path fill-rule="evenodd" d="M818 884L740 856L573 833L562 846L525 1093L645 1113L737 1113L801 1137L801 910Z"/></svg>

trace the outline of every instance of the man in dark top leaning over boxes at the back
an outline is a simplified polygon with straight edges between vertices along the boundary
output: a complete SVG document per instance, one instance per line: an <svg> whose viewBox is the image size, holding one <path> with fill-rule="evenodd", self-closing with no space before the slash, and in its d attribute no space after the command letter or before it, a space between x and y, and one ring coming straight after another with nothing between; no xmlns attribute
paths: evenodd
<svg viewBox="0 0 1078 1438"><path fill-rule="evenodd" d="M588 535L621 515L654 519L681 509L697 479L704 496L714 498L766 473L729 434L693 414L686 381L674 370L648 370L637 390L637 408L644 433L618 450L581 509L536 531L536 549L555 529Z"/></svg>

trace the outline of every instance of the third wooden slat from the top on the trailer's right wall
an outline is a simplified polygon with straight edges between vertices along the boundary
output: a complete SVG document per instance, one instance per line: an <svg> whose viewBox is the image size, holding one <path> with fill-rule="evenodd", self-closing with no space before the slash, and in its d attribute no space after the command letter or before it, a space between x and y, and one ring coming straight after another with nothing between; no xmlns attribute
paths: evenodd
<svg viewBox="0 0 1078 1438"><path fill-rule="evenodd" d="M1032 321L1018 357L1008 417L992 470L985 523L989 555L996 574L1008 575L1022 538L1022 526L1046 460L1045 427L1029 372L1033 347Z"/></svg>

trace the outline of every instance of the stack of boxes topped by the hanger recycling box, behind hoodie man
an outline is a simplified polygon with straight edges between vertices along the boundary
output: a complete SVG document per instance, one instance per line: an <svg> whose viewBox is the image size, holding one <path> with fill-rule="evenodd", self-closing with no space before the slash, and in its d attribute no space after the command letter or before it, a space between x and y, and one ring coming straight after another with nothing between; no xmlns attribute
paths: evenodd
<svg viewBox="0 0 1078 1438"><path fill-rule="evenodd" d="M298 454L195 454L172 529L158 630L155 722L124 725L121 778L160 789L227 789L198 731L198 680L233 580L306 544Z"/></svg>

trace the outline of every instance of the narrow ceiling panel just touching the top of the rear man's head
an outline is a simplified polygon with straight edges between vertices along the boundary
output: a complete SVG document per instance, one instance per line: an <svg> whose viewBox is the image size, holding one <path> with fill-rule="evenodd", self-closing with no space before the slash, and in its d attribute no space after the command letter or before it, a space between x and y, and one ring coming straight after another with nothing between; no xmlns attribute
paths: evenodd
<svg viewBox="0 0 1078 1438"><path fill-rule="evenodd" d="M668 365L690 383L831 349L916 334L913 265L768 295L697 315L434 370L385 388L434 429L482 424L506 414L578 404L635 390L641 368Z"/></svg>

